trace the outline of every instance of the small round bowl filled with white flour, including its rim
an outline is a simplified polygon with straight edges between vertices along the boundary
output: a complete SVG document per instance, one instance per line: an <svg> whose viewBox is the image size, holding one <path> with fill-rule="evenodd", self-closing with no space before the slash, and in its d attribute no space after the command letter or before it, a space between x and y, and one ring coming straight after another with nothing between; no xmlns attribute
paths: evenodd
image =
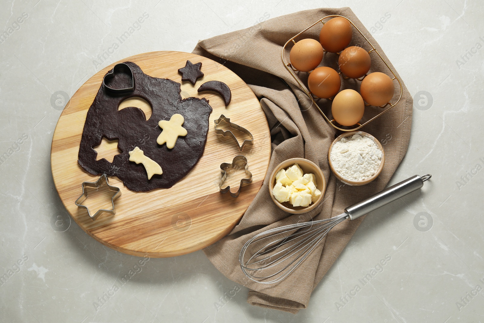
<svg viewBox="0 0 484 323"><path fill-rule="evenodd" d="M385 163L385 153L377 138L363 131L350 131L334 139L328 161L337 179L360 186L378 177Z"/></svg>

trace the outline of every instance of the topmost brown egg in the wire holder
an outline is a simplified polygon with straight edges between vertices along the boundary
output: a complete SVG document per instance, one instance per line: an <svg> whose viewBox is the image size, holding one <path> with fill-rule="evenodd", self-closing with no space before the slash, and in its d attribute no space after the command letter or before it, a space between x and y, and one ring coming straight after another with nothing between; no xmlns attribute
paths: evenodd
<svg viewBox="0 0 484 323"><path fill-rule="evenodd" d="M321 28L319 42L326 51L338 53L349 45L351 34L351 24L348 19L335 17Z"/></svg>

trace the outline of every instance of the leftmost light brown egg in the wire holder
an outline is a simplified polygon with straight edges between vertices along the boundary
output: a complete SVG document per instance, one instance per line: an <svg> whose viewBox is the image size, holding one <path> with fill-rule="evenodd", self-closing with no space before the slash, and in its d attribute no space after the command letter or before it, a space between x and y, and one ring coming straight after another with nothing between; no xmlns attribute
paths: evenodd
<svg viewBox="0 0 484 323"><path fill-rule="evenodd" d="M291 48L289 60L295 69L309 72L318 67L323 59L323 47L316 39L302 39Z"/></svg>

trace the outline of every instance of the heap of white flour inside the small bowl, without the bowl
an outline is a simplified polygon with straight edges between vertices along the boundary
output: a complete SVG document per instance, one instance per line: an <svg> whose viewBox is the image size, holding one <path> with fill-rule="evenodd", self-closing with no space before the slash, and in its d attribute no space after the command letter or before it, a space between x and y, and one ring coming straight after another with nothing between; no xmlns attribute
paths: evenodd
<svg viewBox="0 0 484 323"><path fill-rule="evenodd" d="M334 170L341 177L350 181L364 181L378 171L381 156L381 150L373 139L355 134L336 142L330 158Z"/></svg>

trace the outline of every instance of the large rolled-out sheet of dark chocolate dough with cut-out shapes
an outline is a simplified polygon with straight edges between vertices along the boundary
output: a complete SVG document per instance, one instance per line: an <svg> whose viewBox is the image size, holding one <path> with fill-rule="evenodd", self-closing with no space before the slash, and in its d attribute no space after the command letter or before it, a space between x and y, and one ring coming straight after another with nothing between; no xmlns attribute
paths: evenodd
<svg viewBox="0 0 484 323"><path fill-rule="evenodd" d="M78 163L93 175L106 173L117 176L132 191L169 188L180 181L202 156L212 107L205 98L189 97L182 100L180 83L150 77L135 63L125 63L131 68L136 88L130 93L112 93L101 85L84 123ZM130 81L130 75L120 72L109 79L108 86L123 89ZM118 111L120 103L133 96L150 103L152 114L149 120L139 108L129 107ZM179 137L175 147L168 149L166 145L156 143L162 131L158 122L169 120L175 113L185 118L183 127L188 134ZM119 140L121 154L114 156L112 163L105 158L96 160L97 153L92 147L99 145L103 136ZM148 180L144 166L129 161L128 152L136 146L162 167L162 175L155 174Z"/></svg>

